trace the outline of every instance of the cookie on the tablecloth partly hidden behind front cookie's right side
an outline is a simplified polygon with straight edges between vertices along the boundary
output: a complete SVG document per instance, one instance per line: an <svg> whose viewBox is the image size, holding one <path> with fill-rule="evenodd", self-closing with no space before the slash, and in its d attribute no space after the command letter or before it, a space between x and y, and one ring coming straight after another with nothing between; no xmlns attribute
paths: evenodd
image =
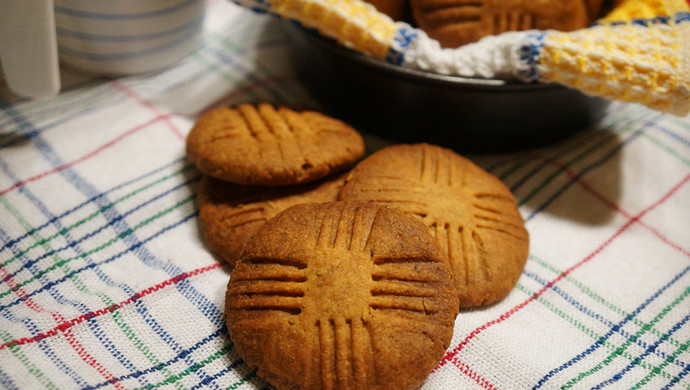
<svg viewBox="0 0 690 390"><path fill-rule="evenodd" d="M510 190L450 149L394 145L361 161L341 200L370 200L416 215L453 268L461 307L505 297L522 273L529 235Z"/></svg>

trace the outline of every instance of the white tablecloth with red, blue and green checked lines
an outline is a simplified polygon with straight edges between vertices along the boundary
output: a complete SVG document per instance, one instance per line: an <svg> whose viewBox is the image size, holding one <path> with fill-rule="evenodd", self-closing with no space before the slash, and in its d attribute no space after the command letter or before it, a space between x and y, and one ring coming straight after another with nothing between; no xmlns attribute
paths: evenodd
<svg viewBox="0 0 690 390"><path fill-rule="evenodd" d="M0 387L268 387L228 338L184 145L211 107L318 107L278 27L210 0L172 68L0 89ZM468 157L515 194L530 254L423 389L690 389L690 120L613 103L561 143Z"/></svg>

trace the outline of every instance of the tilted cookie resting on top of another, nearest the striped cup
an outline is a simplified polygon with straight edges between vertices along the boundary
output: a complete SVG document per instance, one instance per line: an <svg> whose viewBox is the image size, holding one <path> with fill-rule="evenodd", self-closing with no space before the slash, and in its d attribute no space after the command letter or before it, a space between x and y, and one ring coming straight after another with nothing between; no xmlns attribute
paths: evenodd
<svg viewBox="0 0 690 390"><path fill-rule="evenodd" d="M345 170L364 154L361 135L315 111L242 104L206 112L187 137L203 173L243 185L288 185Z"/></svg>

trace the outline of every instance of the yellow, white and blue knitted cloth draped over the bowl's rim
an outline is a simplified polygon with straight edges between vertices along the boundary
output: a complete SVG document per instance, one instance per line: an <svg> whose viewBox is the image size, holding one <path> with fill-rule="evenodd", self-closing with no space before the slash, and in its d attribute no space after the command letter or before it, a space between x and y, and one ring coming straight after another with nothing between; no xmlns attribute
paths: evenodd
<svg viewBox="0 0 690 390"><path fill-rule="evenodd" d="M557 82L683 116L690 112L690 13L684 0L622 0L574 32L520 31L443 49L363 0L237 0L295 20L391 64L464 77Z"/></svg>

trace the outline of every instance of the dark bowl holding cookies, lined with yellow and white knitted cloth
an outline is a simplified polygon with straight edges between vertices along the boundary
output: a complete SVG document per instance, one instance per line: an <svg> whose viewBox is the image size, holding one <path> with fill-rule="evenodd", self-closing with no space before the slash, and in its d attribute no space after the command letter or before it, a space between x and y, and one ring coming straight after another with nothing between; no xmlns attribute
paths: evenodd
<svg viewBox="0 0 690 390"><path fill-rule="evenodd" d="M536 147L611 100L690 112L686 0L237 0L280 16L330 114L466 152Z"/></svg>

